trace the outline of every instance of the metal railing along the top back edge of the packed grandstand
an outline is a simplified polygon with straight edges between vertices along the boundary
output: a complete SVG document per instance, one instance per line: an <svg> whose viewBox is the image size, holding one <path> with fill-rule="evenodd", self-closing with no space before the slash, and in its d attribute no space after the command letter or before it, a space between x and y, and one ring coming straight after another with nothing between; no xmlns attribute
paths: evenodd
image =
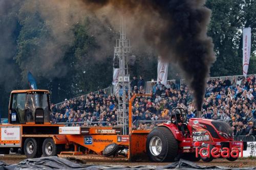
<svg viewBox="0 0 256 170"><path fill-rule="evenodd" d="M252 76L256 76L256 75L253 74L253 75L247 75L247 76L251 78ZM209 77L209 78L207 78L207 82L208 82L209 80L216 80L216 79L225 80L226 77L227 77L228 80L230 80L231 83L232 83L232 81L233 81L234 78L236 78L236 80L238 80L239 78L243 77L243 75L221 76L221 77ZM175 83L175 80L167 80L167 81L168 81L168 82L173 82L173 83ZM145 87L144 87L144 88L145 88L145 93L150 93L150 91L152 90L152 82L157 83L157 81L148 81L148 82L145 82ZM184 79L181 79L180 83L181 83L181 85L183 85L183 84L185 83L185 80L184 80ZM104 88L104 89L102 89L102 91L106 91L106 94L112 95L112 94L114 94L114 85L111 85L110 87ZM98 90L98 91L94 91L93 93L94 93L94 94L98 94L98 93L99 93L99 90ZM90 93L88 93L88 94L90 94ZM80 99L82 98L82 96L86 96L86 95L88 95L88 94L80 95L80 96L78 96L77 98L74 98L74 99L80 100ZM65 102L57 103L57 104L55 104L55 106L59 107L59 106L61 106L63 103L65 103Z"/></svg>

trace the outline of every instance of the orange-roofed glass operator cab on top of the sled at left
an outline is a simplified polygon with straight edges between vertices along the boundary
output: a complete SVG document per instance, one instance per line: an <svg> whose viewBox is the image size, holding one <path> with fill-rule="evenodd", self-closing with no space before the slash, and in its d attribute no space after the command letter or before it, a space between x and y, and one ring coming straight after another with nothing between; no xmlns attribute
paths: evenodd
<svg viewBox="0 0 256 170"><path fill-rule="evenodd" d="M9 103L9 124L49 124L50 99L47 90L14 90Z"/></svg>

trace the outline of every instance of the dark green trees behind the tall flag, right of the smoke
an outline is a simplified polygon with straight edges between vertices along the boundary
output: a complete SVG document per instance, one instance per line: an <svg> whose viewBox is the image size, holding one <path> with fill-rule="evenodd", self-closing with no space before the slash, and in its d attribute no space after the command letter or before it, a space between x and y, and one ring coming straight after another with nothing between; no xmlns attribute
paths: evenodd
<svg viewBox="0 0 256 170"><path fill-rule="evenodd" d="M251 57L256 53L256 4L253 0L208 0L212 10L208 35L215 44L217 61L211 67L211 76L242 74L242 29L252 28ZM252 59L248 74L255 73Z"/></svg>

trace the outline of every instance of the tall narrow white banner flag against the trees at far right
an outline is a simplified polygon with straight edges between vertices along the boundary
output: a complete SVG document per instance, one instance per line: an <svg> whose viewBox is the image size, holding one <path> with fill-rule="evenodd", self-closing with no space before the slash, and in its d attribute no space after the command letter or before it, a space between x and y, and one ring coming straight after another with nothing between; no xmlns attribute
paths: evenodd
<svg viewBox="0 0 256 170"><path fill-rule="evenodd" d="M251 28L243 29L243 75L247 76L251 54Z"/></svg>

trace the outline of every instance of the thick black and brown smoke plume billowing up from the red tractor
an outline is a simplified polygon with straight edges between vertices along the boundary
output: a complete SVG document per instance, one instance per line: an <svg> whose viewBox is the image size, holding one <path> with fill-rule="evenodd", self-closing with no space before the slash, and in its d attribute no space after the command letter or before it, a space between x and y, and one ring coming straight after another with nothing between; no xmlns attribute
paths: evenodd
<svg viewBox="0 0 256 170"><path fill-rule="evenodd" d="M211 11L205 0L84 0L93 11L109 9L132 21L132 35L152 46L163 60L177 64L193 90L197 110L201 110L209 68L215 62L214 44L207 36Z"/></svg>

